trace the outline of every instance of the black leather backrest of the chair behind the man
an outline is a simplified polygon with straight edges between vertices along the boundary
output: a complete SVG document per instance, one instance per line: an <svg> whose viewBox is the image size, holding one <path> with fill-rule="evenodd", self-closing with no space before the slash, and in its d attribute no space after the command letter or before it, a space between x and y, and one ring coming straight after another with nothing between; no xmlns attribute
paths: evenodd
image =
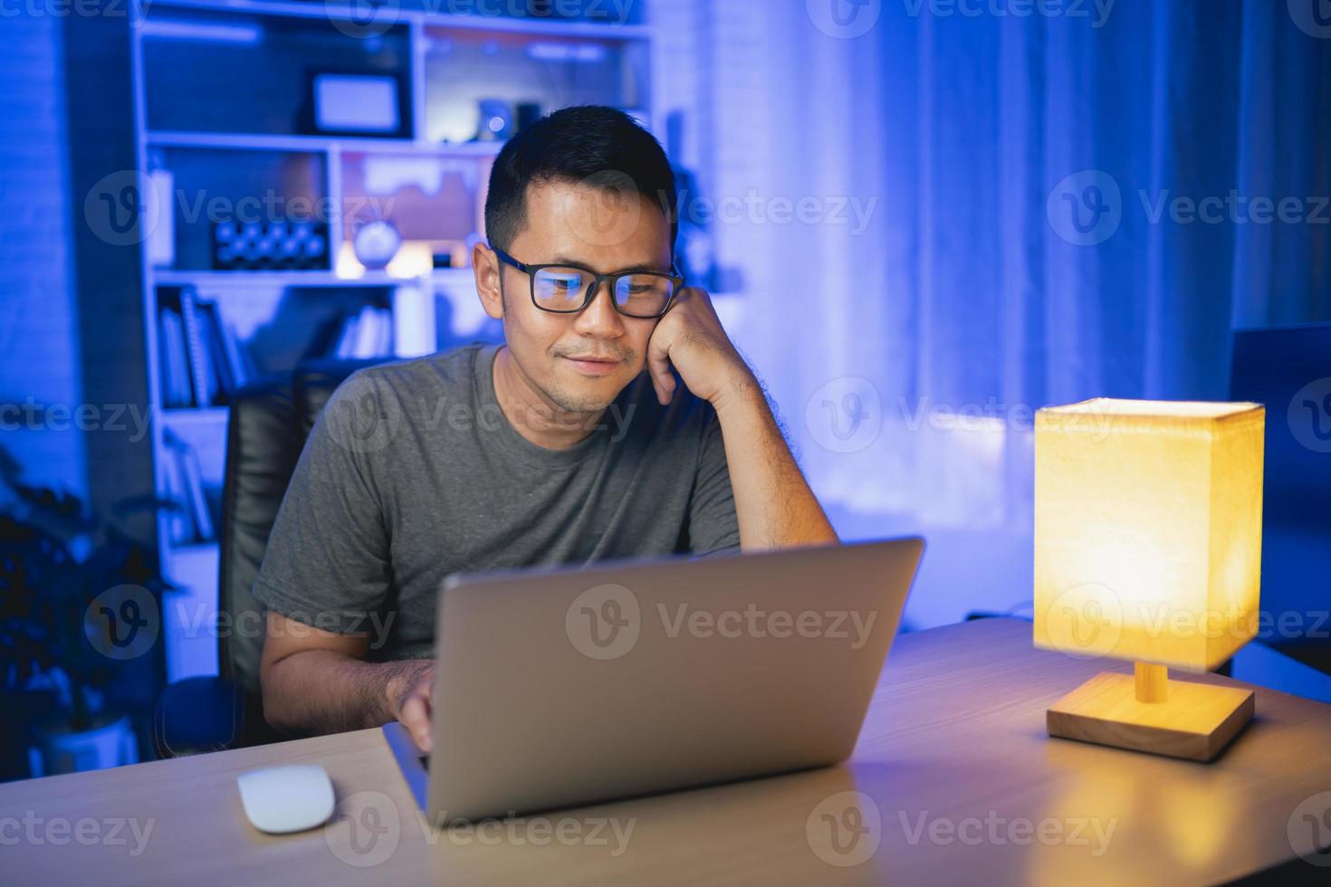
<svg viewBox="0 0 1331 887"><path fill-rule="evenodd" d="M347 376L375 363L381 360L302 363L290 378L256 382L232 399L222 481L218 612L237 630L218 632L218 665L221 674L245 692L252 714L248 723L262 725L262 717L253 714L262 710L258 664L264 649L264 605L254 600L252 589L268 536L323 404Z"/></svg>

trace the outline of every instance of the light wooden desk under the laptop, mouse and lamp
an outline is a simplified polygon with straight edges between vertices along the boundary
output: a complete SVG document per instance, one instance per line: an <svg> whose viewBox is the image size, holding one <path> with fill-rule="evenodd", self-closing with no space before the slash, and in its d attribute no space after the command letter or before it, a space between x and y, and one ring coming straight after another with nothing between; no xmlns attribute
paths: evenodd
<svg viewBox="0 0 1331 887"><path fill-rule="evenodd" d="M1258 689L1256 719L1214 765L1047 738L1045 707L1106 666L1126 668L1036 650L1030 625L1014 620L906 634L843 767L506 831L422 828L379 730L12 783L0 786L0 842L12 844L0 844L0 880L1139 887L1215 883L1291 860L1286 876L1331 878L1296 858L1287 832L1300 802L1331 790L1331 706ZM327 767L342 805L355 802L362 824L375 824L361 818L374 809L377 832L355 835L362 852L346 819L282 838L245 821L237 774L311 761ZM847 798L858 821L853 810L845 818ZM126 819L140 834L152 826L146 844L129 826L110 834ZM855 844L843 830L840 854L828 824L837 821L880 830Z"/></svg>

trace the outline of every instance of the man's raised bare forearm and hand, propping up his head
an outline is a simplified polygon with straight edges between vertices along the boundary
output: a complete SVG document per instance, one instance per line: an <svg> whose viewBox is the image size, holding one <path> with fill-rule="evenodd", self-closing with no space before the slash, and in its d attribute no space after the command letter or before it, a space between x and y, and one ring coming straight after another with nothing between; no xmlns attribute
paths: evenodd
<svg viewBox="0 0 1331 887"><path fill-rule="evenodd" d="M662 403L675 394L671 366L716 410L725 440L741 551L837 544L836 532L781 436L767 396L731 343L703 290L680 290L647 344Z"/></svg>

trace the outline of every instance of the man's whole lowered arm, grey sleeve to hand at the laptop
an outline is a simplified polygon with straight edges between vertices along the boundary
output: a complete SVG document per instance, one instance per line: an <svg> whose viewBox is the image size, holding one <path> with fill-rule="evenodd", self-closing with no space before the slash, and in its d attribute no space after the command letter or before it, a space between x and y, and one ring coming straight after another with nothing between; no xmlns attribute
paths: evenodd
<svg viewBox="0 0 1331 887"><path fill-rule="evenodd" d="M395 396L389 379L366 371L338 387L269 535L254 597L268 608L264 717L281 730L334 733L398 718L418 743L429 737L433 662L365 661L369 614L393 606L379 489L394 459L391 435L367 438L366 428L391 431L385 416Z"/></svg>

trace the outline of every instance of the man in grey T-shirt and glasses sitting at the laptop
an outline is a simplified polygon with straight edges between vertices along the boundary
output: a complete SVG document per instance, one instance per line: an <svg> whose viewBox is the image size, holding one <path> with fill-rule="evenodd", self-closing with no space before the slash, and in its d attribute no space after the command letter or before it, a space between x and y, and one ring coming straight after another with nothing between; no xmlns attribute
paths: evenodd
<svg viewBox="0 0 1331 887"><path fill-rule="evenodd" d="M454 572L837 541L707 294L673 277L675 201L660 145L611 108L504 146L473 251L504 344L353 375L282 501L254 588L274 726L399 719L429 751Z"/></svg>

